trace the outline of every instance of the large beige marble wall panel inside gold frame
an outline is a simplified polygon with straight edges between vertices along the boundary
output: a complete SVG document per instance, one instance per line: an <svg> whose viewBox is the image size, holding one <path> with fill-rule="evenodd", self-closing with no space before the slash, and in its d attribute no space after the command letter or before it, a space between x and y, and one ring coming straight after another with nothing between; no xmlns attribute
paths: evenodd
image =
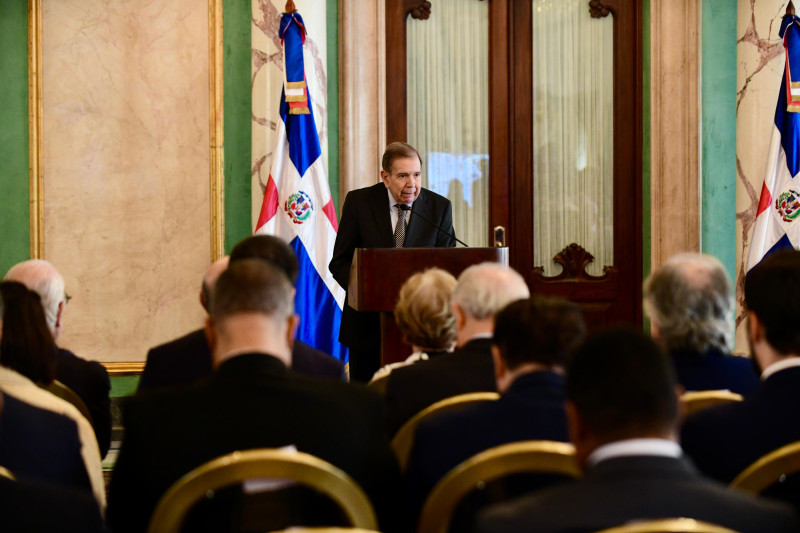
<svg viewBox="0 0 800 533"><path fill-rule="evenodd" d="M202 323L208 6L42 0L44 257L84 357L141 361Z"/></svg>

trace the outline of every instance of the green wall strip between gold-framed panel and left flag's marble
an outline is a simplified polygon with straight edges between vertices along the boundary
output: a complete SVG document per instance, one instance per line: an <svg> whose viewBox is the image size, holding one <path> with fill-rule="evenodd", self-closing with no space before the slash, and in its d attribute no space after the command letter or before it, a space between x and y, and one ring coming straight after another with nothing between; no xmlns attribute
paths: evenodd
<svg viewBox="0 0 800 533"><path fill-rule="evenodd" d="M250 92L251 1L224 2L223 107L225 136L225 252L252 234L250 160L252 95Z"/></svg>

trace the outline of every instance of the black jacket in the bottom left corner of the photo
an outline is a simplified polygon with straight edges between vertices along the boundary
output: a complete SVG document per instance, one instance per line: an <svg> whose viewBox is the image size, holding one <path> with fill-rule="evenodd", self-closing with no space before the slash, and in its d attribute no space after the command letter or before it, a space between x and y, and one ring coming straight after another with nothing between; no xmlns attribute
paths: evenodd
<svg viewBox="0 0 800 533"><path fill-rule="evenodd" d="M0 477L0 527L14 533L105 531L91 493Z"/></svg>

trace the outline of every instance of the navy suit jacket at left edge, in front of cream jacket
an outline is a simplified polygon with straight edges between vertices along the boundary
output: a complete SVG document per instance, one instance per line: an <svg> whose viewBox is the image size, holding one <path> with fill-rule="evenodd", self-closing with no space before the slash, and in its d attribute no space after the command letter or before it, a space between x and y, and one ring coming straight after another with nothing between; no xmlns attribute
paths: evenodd
<svg viewBox="0 0 800 533"><path fill-rule="evenodd" d="M8 394L3 394L0 411L0 465L17 479L72 487L92 496L75 422Z"/></svg>

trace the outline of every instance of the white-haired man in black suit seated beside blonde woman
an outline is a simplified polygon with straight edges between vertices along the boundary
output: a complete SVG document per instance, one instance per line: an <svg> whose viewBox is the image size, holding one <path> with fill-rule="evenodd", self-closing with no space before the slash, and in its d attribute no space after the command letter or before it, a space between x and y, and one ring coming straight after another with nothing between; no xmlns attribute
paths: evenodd
<svg viewBox="0 0 800 533"><path fill-rule="evenodd" d="M494 315L530 296L517 272L496 263L473 265L458 277L452 306L456 345L452 354L398 368L386 382L390 434L439 400L468 392L497 391L492 363Z"/></svg>

